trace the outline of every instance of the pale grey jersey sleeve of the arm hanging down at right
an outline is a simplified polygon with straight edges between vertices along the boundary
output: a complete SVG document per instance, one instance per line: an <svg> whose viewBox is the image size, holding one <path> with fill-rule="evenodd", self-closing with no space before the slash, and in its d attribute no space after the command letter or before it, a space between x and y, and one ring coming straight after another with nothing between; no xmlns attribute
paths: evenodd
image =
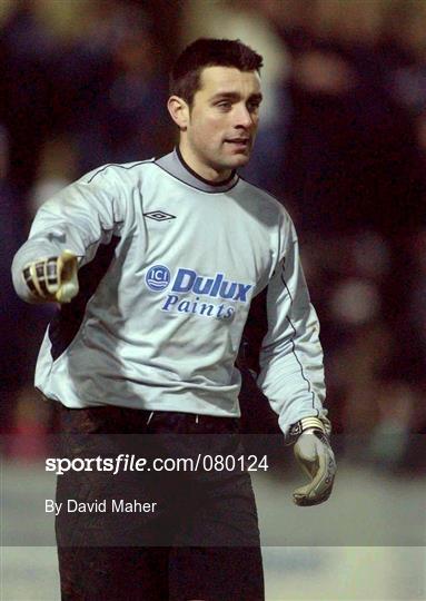
<svg viewBox="0 0 426 601"><path fill-rule="evenodd" d="M319 323L310 304L297 235L289 221L286 250L266 292L267 334L258 385L278 414L281 431L301 417L325 416L325 382Z"/></svg>

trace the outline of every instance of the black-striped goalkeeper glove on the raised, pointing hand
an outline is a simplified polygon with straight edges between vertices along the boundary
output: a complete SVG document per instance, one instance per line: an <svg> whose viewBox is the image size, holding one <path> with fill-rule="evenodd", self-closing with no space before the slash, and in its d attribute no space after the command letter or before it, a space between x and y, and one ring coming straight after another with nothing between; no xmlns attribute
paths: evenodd
<svg viewBox="0 0 426 601"><path fill-rule="evenodd" d="M79 290L77 256L63 250L59 257L40 258L28 263L23 279L40 300L69 303Z"/></svg>

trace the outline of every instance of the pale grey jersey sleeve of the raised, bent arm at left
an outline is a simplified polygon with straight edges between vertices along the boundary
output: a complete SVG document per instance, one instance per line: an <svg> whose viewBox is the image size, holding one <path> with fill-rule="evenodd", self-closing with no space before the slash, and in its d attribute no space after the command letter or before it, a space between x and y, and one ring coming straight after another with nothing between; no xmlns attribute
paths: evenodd
<svg viewBox="0 0 426 601"><path fill-rule="evenodd" d="M120 236L125 200L112 169L83 176L40 207L29 238L12 263L14 289L23 300L36 302L22 277L27 263L59 256L68 249L78 256L81 266L95 257L100 244Z"/></svg>

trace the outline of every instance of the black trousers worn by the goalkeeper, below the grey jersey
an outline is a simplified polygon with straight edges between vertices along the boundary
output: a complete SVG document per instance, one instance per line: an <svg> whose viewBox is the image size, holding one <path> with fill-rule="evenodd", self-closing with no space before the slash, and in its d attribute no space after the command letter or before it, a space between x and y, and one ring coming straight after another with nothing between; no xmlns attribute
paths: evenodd
<svg viewBox="0 0 426 601"><path fill-rule="evenodd" d="M57 456L78 460L80 470L57 481L62 600L264 600L255 497L238 462L238 420L55 405ZM117 465L119 455L117 473L95 469L96 457ZM126 455L128 462L145 459L143 471L125 470ZM192 466L198 459L198 467L172 469L178 457ZM228 457L227 469L220 457ZM85 460L92 460L91 470L81 470ZM153 471L155 461L166 460L167 471ZM129 511L111 511L112 502ZM153 511L130 511L140 506L136 502Z"/></svg>

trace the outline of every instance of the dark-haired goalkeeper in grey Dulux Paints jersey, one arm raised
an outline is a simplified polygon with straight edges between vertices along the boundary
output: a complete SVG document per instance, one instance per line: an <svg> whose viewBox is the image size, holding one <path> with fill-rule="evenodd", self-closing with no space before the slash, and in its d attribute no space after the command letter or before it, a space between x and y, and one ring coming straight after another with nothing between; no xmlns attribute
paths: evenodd
<svg viewBox="0 0 426 601"><path fill-rule="evenodd" d="M111 433L166 435L137 443L164 457L241 456L235 361L251 300L265 298L258 385L311 477L295 501L310 505L328 497L335 473L318 322L288 214L236 173L258 126L261 60L239 41L190 45L168 100L179 147L100 167L46 203L12 272L26 300L61 304L36 386L57 402L62 431L100 433L107 447ZM85 436L69 442L72 456L96 455ZM98 476L77 475L59 476L59 499L96 497ZM264 599L248 474L170 477L132 481L160 508L139 522L58 516L63 599Z"/></svg>

